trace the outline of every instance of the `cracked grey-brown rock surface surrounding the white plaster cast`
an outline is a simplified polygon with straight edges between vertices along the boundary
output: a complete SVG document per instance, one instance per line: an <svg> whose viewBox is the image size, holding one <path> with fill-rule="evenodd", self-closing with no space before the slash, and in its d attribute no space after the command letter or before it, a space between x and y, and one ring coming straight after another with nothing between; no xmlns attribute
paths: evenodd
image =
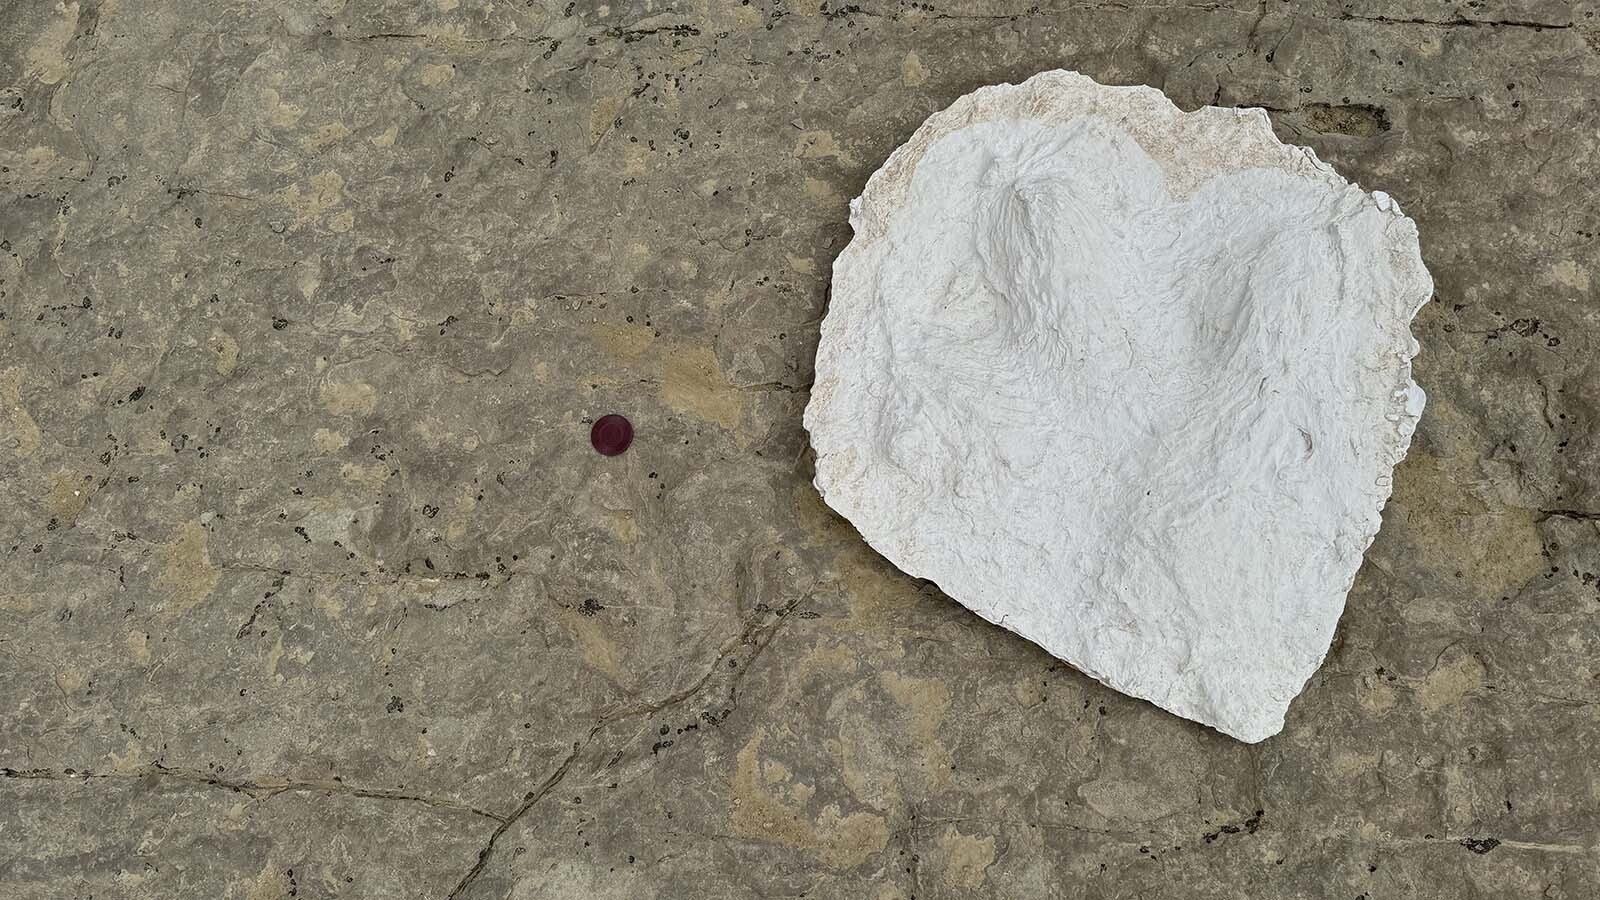
<svg viewBox="0 0 1600 900"><path fill-rule="evenodd" d="M1594 3L0 11L0 895L1600 882ZM1429 412L1259 745L810 487L848 199L1054 67L1266 107L1424 235Z"/></svg>

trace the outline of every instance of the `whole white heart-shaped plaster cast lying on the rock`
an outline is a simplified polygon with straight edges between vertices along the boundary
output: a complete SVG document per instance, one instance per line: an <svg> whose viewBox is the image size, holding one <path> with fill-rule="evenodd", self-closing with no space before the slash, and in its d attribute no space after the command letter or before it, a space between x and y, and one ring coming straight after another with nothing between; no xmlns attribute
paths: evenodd
<svg viewBox="0 0 1600 900"><path fill-rule="evenodd" d="M851 224L829 506L1117 690L1277 733L1422 410L1411 219L1262 110L1054 70L933 115Z"/></svg>

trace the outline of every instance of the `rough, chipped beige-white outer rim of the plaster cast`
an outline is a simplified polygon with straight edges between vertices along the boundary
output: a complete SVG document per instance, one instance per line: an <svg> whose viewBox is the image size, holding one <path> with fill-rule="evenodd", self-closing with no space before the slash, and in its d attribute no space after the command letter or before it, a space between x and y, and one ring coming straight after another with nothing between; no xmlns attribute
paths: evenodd
<svg viewBox="0 0 1600 900"><path fill-rule="evenodd" d="M1027 112L1037 119L1066 123L1080 115L1102 115L1104 119L1115 122L1118 127L1125 128L1126 133L1141 147L1144 147L1144 151L1152 157L1152 160L1155 160L1158 165L1163 167L1163 171L1168 178L1168 191L1174 199L1189 197L1195 189L1198 189L1202 184L1205 184L1219 173L1237 171L1245 168L1280 168L1285 171L1291 171L1294 175L1325 181L1330 187L1334 187L1338 191L1352 191L1352 189L1360 191L1360 186L1357 186L1352 181L1347 181L1331 165L1322 162L1317 157L1315 151L1312 151L1310 147L1302 147L1298 144L1285 144L1278 141L1277 135L1274 135L1272 131L1272 120L1267 117L1267 112L1264 109L1205 106L1195 109L1194 112L1184 112L1165 93L1155 88L1146 85L1101 85L1099 82L1094 82L1086 75L1070 72L1066 69L1054 69L1048 72L1040 72L1018 85L1000 83L1000 85L989 85L978 88L968 94L963 94L949 107L930 115L917 128L917 131L904 144L896 147L894 152L891 152L890 157L883 162L883 165L877 171L874 171L870 178L867 178L867 183L862 187L861 195L850 202L850 226L854 231L854 237L835 259L834 263L835 272L848 267L856 255L864 253L869 245L872 245L877 239L883 235L886 224L883 219L883 213L880 213L880 210L893 211L901 205L906 191L910 187L912 175L915 173L917 165L920 163L923 154L936 139L968 125L1014 117L1016 102L1011 98L1011 94L1016 93L1022 93L1024 98L1030 101L1027 104ZM1117 102L1115 104L1107 102L1107 96L1114 94ZM1158 115L1149 115L1144 120L1138 120L1138 117L1133 117L1134 120L1130 120L1130 117L1125 112L1128 107L1144 107L1142 112L1158 114ZM1200 167L1187 167L1176 170L1168 168L1163 154L1157 152L1163 147L1173 147L1173 149L1181 147L1181 154L1174 152L1171 154L1173 157L1211 155L1211 159L1214 160L1214 167L1203 173L1197 171ZM1371 202L1379 211L1389 213L1397 219L1410 221L1400 211L1398 202L1395 202L1389 194L1384 194L1381 191L1373 191L1370 194L1363 192L1363 194L1366 200ZM1419 250L1413 251L1410 256L1413 258L1405 259L1405 266L1403 269L1400 269L1400 274L1402 275L1408 274L1413 277L1410 279L1410 283L1405 283L1405 280L1402 280L1398 288L1400 298L1405 298L1406 295L1414 296L1414 303L1410 304L1411 312L1406 317L1406 322L1411 322L1416 317L1416 314L1422 309L1422 306L1427 304L1429 298L1434 293L1434 280L1432 275L1427 272L1426 264L1421 259ZM1414 291L1414 295L1411 291ZM858 322L854 322L854 315L850 315L850 319L851 320L846 322L845 317L834 315L834 309L830 307L824 315L821 325L822 340L819 346L829 344L829 331L848 330L850 327L858 325ZM1416 423L1422 413L1422 407L1426 405L1426 394L1422 388L1418 386L1418 383L1411 378L1411 360L1421 351L1421 344L1418 343L1416 336L1410 333L1410 328L1406 328L1406 335L1410 341L1406 352L1398 360L1400 367L1398 367L1398 376L1395 380L1395 389L1392 392L1392 405L1390 405L1392 412L1386 416L1387 421L1394 424L1394 432L1392 439L1386 442L1389 453L1387 458L1384 460L1384 468L1382 468L1384 474L1381 474L1373 485L1376 488L1374 493L1378 496L1376 509L1373 511L1370 519L1363 520L1363 522L1371 522L1371 525L1362 528L1363 532L1363 540L1360 541L1362 557L1365 557L1366 551L1373 544L1373 540L1378 536L1382 508L1387 504L1389 496L1394 490L1394 477L1392 477L1394 466L1397 466L1402 460L1405 460L1406 450L1410 448L1411 444L1411 436L1416 431ZM819 373L818 383L811 389L811 400L805 410L805 428L808 432L813 432L813 423L816 421L816 416L819 416L819 413L814 410L826 407L832 394L832 384L826 383L822 380L822 375L824 373ZM827 460L819 455L816 461L816 476L813 479L813 484L822 495L824 503L827 498L827 469L829 469ZM878 554L882 554L885 559L894 564L896 569L901 569L902 572L917 578L926 578L926 575L922 575L902 565L904 560L898 559L899 554L891 554L886 548L880 546L878 541L874 541L866 535L862 535L862 540L866 540L869 546L872 546ZM1342 599L1349 597L1349 593L1355 585L1355 577L1358 570L1360 565L1357 565L1355 570L1352 570L1349 580L1342 585L1341 589ZM1339 607L1339 617L1344 615L1342 599ZM966 607L966 604L962 605L971 610L971 607ZM1029 642L1035 642L1027 634L1018 631L1016 626L1005 621L1005 617L990 617L982 610L971 610L971 612L976 612L984 620L998 625L1006 631L1019 634ZM1326 653L1330 649L1331 649L1331 641L1330 645L1323 649L1317 668L1307 673L1306 681L1301 682L1301 685L1294 692L1294 697L1304 692L1304 685L1310 681L1315 671L1322 668L1322 663L1326 661ZM1046 649L1046 652L1050 650ZM1155 697L1149 697L1146 693L1136 693L1128 690L1126 687L1110 684L1098 673L1083 668L1078 661L1074 660L1062 660L1062 661L1072 665L1078 671L1083 671L1090 677L1094 677L1096 681L1107 684L1109 687L1112 687L1120 693L1128 693L1131 697L1138 697L1141 700L1147 700L1160 706L1160 701ZM1291 700L1293 697L1283 700L1278 705L1275 722L1272 724L1270 729L1266 729L1259 733L1256 732L1235 733L1232 730L1226 730L1218 724L1211 722L1202 722L1202 724L1206 724L1208 727L1213 727L1237 740L1246 743L1258 743L1261 740L1266 740L1278 733L1283 729L1283 716L1288 711L1288 705ZM1174 714L1182 716L1181 713Z"/></svg>

